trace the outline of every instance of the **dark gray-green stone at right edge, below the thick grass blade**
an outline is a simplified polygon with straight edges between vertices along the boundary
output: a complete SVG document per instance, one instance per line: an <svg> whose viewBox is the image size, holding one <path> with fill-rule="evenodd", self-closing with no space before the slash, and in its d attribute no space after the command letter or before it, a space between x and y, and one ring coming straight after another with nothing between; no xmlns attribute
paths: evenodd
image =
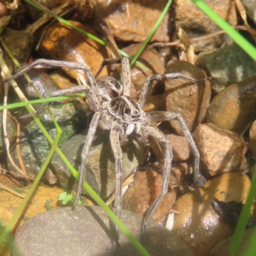
<svg viewBox="0 0 256 256"><path fill-rule="evenodd" d="M220 93L230 84L256 76L255 61L237 44L201 52L196 66L212 77L211 84L215 93Z"/></svg>

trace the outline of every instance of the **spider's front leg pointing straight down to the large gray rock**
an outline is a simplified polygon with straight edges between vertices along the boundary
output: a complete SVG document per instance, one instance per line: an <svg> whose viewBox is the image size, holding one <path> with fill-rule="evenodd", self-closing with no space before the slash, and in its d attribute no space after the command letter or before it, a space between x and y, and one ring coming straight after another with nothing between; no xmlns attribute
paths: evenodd
<svg viewBox="0 0 256 256"><path fill-rule="evenodd" d="M117 121L114 121L110 131L111 147L115 156L116 162L116 216L120 218L122 207L122 173L123 173L123 161L122 161L122 149L120 147L120 132L121 126ZM117 230L117 228L116 228Z"/></svg>

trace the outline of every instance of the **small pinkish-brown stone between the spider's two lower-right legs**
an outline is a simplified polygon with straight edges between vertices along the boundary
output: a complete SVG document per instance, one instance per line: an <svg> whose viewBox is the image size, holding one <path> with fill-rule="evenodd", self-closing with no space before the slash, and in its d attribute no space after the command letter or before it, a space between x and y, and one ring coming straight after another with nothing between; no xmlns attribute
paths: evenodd
<svg viewBox="0 0 256 256"><path fill-rule="evenodd" d="M191 151L186 137L175 134L168 134L166 137L172 144L173 161L188 160Z"/></svg>

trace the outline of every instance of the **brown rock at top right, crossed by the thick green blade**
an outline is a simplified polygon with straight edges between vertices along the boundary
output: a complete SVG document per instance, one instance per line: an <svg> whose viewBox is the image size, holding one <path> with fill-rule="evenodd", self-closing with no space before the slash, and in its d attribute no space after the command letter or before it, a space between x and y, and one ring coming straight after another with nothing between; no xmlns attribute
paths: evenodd
<svg viewBox="0 0 256 256"><path fill-rule="evenodd" d="M236 6L230 0L205 0L214 12L232 26L237 24ZM189 38L198 38L219 31L220 28L192 1L175 1L175 25L186 31ZM223 43L223 36L193 42L195 51L211 51Z"/></svg>

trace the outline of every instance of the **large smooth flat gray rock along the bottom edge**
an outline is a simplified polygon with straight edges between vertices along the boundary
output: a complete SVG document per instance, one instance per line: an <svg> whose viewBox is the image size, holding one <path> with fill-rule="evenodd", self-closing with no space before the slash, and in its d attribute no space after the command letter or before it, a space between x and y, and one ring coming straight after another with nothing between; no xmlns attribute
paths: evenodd
<svg viewBox="0 0 256 256"><path fill-rule="evenodd" d="M122 211L122 221L137 238L142 217ZM140 255L124 234L116 255ZM100 207L69 207L47 211L28 220L17 232L15 244L23 256L113 255L109 218ZM169 230L150 221L143 245L150 255L193 256ZM17 256L13 253L13 256Z"/></svg>

